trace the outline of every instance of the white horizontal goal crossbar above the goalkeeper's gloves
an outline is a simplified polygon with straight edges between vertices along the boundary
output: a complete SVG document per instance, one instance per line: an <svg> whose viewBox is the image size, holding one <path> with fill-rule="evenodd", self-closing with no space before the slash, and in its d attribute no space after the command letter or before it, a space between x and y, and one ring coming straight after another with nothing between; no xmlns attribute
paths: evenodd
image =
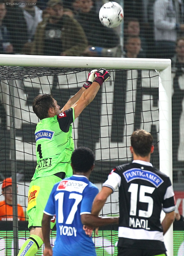
<svg viewBox="0 0 184 256"><path fill-rule="evenodd" d="M68 68L128 68L165 70L171 65L170 59L151 58L109 58L76 56L40 56L0 54L1 66L26 67L68 67Z"/></svg>

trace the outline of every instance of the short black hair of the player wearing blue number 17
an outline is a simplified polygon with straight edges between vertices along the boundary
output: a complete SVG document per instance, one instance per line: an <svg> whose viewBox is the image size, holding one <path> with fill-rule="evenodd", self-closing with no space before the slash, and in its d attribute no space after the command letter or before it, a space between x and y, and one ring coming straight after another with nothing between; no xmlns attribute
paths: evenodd
<svg viewBox="0 0 184 256"><path fill-rule="evenodd" d="M90 148L78 147L72 153L71 161L75 172L88 172L94 164L94 153Z"/></svg>

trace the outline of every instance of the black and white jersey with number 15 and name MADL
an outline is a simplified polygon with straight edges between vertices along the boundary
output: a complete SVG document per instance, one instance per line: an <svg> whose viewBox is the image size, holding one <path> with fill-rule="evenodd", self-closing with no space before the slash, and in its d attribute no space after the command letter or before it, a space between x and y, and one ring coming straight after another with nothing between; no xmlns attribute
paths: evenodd
<svg viewBox="0 0 184 256"><path fill-rule="evenodd" d="M176 208L170 178L151 163L134 160L113 169L103 186L119 187L118 246L164 250L161 210Z"/></svg>

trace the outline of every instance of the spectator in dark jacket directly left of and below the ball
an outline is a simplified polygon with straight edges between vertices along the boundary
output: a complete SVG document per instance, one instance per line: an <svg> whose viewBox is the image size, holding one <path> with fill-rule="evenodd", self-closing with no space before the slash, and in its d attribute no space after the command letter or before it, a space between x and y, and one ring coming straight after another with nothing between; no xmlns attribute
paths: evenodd
<svg viewBox="0 0 184 256"><path fill-rule="evenodd" d="M74 4L76 3L80 11L75 15L75 19L81 24L88 40L84 55L103 56L104 48L108 51L118 45L118 36L113 29L101 24L92 0L74 0Z"/></svg>

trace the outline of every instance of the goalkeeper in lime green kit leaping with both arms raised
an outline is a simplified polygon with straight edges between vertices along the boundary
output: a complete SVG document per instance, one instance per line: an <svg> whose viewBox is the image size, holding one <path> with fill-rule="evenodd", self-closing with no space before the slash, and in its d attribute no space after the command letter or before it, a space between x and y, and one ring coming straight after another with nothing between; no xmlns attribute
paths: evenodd
<svg viewBox="0 0 184 256"><path fill-rule="evenodd" d="M35 130L37 167L29 186L27 215L30 237L18 256L33 256L43 244L41 221L43 210L55 183L72 176L71 155L74 150L72 122L92 102L110 74L100 68L92 70L82 88L60 110L50 94L38 95L33 111L40 119ZM51 229L55 217L51 219Z"/></svg>

